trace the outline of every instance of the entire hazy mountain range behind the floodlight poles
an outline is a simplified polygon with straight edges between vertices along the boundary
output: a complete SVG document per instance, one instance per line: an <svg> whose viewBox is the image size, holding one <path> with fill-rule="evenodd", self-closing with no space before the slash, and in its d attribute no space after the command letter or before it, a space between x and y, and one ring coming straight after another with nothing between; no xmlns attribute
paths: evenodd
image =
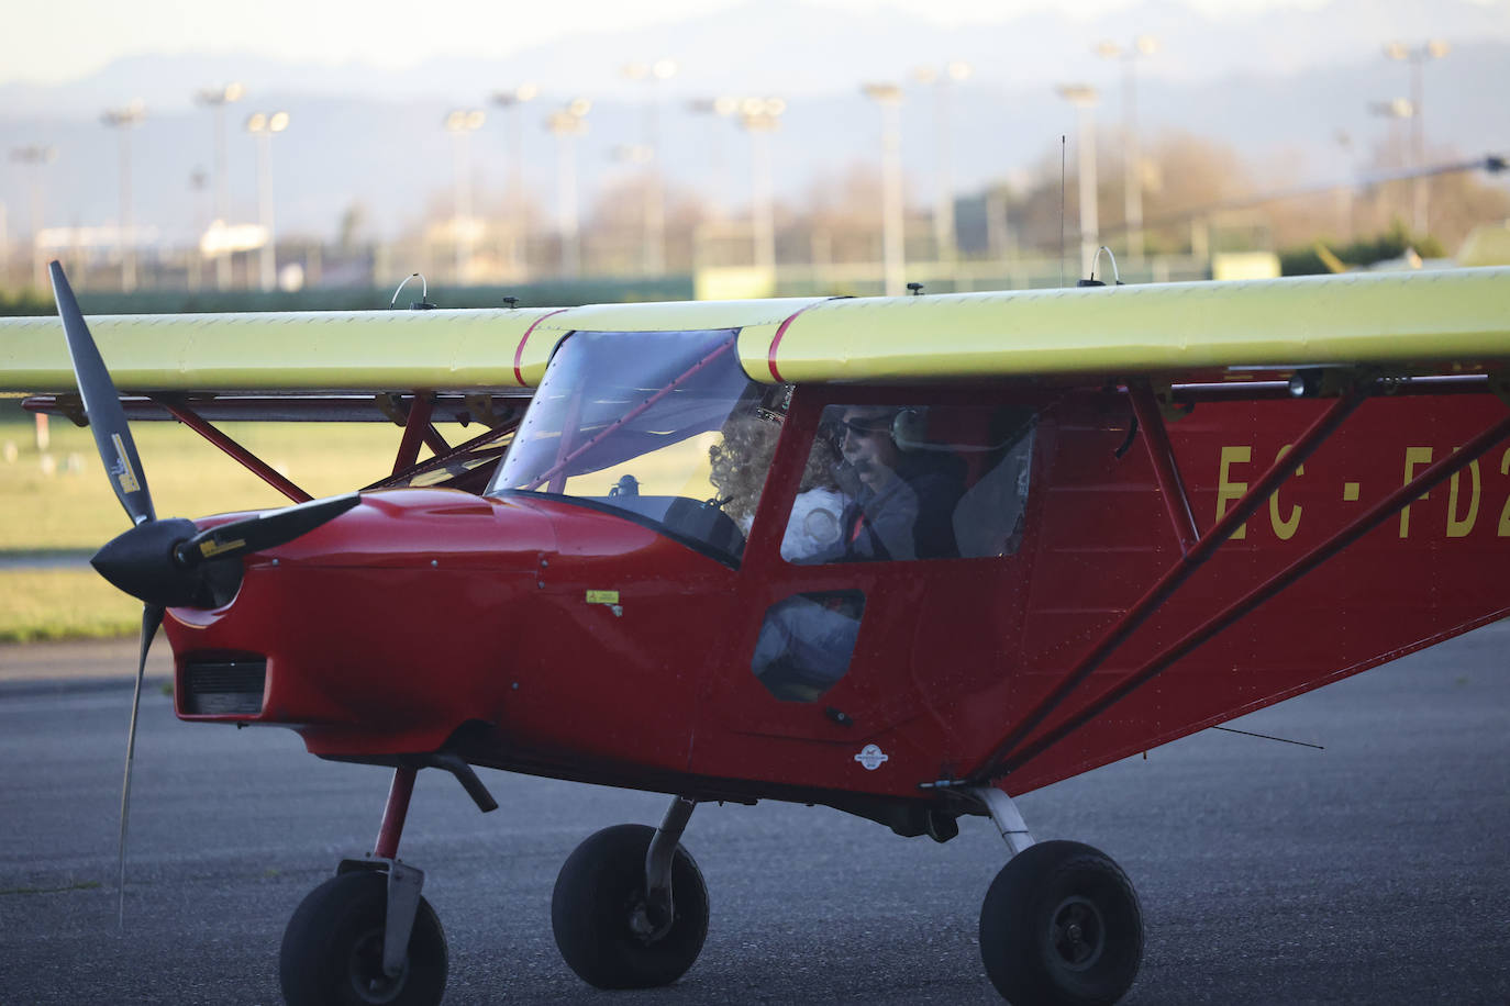
<svg viewBox="0 0 1510 1006"><path fill-rule="evenodd" d="M595 98L590 133L578 143L583 205L630 167L616 148L642 139L649 86L627 81L627 53L670 56L680 69L657 84L663 163L673 181L734 207L747 202L747 139L728 121L686 112L690 97L772 94L788 100L773 137L778 189L800 198L815 176L835 176L879 158L879 115L862 98L865 80L908 84L903 151L918 202L932 192L935 100L911 81L918 63L963 59L972 75L953 87L953 170L960 192L1010 176L1042 158L1060 134L1074 142L1072 110L1054 84L1083 80L1104 92L1102 149L1116 143L1120 68L1092 54L1101 39L1151 33L1161 50L1139 65L1139 122L1148 142L1182 130L1228 143L1276 186L1345 176L1367 158L1389 122L1368 106L1407 94L1407 68L1383 42L1447 38L1453 51L1425 69L1427 131L1438 151L1510 149L1510 3L1335 0L1315 11L1211 20L1175 0L1148 0L1099 21L1060 12L1021 15L957 29L892 12L868 18L802 0L749 3L684 23L619 33L584 32L525 48L506 60L448 59L394 72L371 66L291 65L254 56L122 59L86 80L39 87L0 84L0 148L51 143L45 172L47 225L107 223L118 214L116 136L98 113L142 97L149 118L134 131L136 216L183 238L210 214L207 192L189 176L213 161L211 116L195 89L226 80L248 86L233 106L228 190L233 217L255 213L254 149L240 130L255 109L287 109L293 124L273 142L273 187L282 232L329 235L347 207L365 207L393 234L426 205L448 198L455 178L444 113L483 106L491 92L524 80L544 95L525 107L525 176L542 210L554 207L556 149L539 125L559 101ZM474 136L480 205L501 199L506 178L503 113ZM1353 142L1344 151L1338 131ZM723 192L714 192L722 187ZM0 169L8 231L27 231L24 170Z"/></svg>

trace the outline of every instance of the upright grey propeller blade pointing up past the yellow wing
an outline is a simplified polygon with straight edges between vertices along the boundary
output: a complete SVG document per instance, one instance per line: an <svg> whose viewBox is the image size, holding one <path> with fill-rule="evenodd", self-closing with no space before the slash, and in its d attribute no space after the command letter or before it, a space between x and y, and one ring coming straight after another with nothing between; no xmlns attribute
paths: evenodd
<svg viewBox="0 0 1510 1006"><path fill-rule="evenodd" d="M63 276L62 264L53 261L48 270L53 276L57 314L63 320L63 335L68 338L68 357L74 362L74 379L85 400L89 431L94 433L104 471L110 474L110 489L125 507L131 523L154 520L157 514L153 511L153 495L146 492L142 459L136 454L136 442L125 424L125 410L121 409L121 397L110 380L110 371L100 359L100 350L89 335L89 326L85 324L85 315L79 309L68 278Z"/></svg>

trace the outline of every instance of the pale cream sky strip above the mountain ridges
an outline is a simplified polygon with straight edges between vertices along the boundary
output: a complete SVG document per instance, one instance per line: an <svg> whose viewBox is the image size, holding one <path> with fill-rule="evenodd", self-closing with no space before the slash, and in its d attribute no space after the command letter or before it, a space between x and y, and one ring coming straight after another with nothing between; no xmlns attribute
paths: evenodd
<svg viewBox="0 0 1510 1006"><path fill-rule="evenodd" d="M615 30L676 21L747 0L71 0L8 5L11 47L0 83L60 83L121 56L254 53L296 60L352 60L399 68L441 54L503 56L583 27ZM1060 0L806 0L856 14L903 12L945 26L1004 21ZM1268 8L1320 8L1329 0L1181 0L1211 17ZM1474 0L1496 3L1499 0ZM1132 0L1077 0L1066 14L1090 20Z"/></svg>

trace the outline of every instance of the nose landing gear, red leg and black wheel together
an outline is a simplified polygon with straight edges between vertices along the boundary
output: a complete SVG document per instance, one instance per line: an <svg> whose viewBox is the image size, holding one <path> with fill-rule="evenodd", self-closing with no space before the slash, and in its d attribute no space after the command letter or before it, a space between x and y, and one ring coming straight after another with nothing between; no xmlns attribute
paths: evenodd
<svg viewBox="0 0 1510 1006"><path fill-rule="evenodd" d="M397 858L417 771L394 771L373 854L343 860L288 920L278 977L290 1006L441 1001L445 932L420 896L424 872Z"/></svg>

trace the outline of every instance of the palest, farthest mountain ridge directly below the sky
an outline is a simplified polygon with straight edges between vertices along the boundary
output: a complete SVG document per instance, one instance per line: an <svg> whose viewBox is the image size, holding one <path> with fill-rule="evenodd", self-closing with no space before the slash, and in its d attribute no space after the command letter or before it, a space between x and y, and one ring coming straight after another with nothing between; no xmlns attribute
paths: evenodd
<svg viewBox="0 0 1510 1006"><path fill-rule="evenodd" d="M264 56L154 54L121 59L97 74L42 87L0 78L0 116L94 116L136 95L160 112L186 110L196 87L240 80L258 98L288 95L476 103L533 80L554 94L634 100L621 74L631 59L672 57L680 71L666 95L844 95L861 80L900 80L918 63L963 59L997 87L1092 78L1113 83L1116 66L1096 42L1154 35L1143 60L1151 80L1197 81L1232 74L1285 75L1379 59L1385 42L1445 38L1457 45L1510 42L1510 0L1330 0L1315 9L1229 12L1217 20L1179 0L1143 0L1101 20L1060 9L945 27L900 9L865 18L817 0L760 0L686 21L630 32L584 27L571 39L504 59L445 57L412 69L364 63L288 63ZM633 56L631 56L633 54ZM3 72L3 68L0 68ZM1404 69L1401 68L1401 77Z"/></svg>

